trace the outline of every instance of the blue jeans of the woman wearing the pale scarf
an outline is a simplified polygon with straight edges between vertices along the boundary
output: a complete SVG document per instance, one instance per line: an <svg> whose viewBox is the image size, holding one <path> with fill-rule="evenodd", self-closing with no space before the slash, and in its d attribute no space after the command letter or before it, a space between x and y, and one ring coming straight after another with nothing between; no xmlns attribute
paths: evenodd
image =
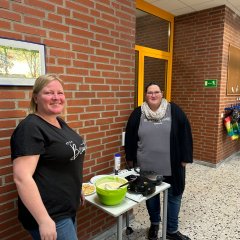
<svg viewBox="0 0 240 240"><path fill-rule="evenodd" d="M174 196L172 188L168 189L168 206L167 206L167 232L175 233L178 230L178 215L181 207L182 194ZM160 217L160 194L146 200L148 214L151 224L159 225Z"/></svg>

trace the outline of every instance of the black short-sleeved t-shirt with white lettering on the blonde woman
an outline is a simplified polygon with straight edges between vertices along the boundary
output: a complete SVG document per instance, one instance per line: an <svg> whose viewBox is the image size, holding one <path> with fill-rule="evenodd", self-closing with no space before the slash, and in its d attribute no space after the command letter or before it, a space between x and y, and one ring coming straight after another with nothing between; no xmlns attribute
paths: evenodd
<svg viewBox="0 0 240 240"><path fill-rule="evenodd" d="M82 168L86 150L83 139L62 119L61 129L35 114L20 122L11 137L11 156L40 155L33 178L53 220L74 217L80 203ZM38 224L18 199L19 220L26 229Z"/></svg>

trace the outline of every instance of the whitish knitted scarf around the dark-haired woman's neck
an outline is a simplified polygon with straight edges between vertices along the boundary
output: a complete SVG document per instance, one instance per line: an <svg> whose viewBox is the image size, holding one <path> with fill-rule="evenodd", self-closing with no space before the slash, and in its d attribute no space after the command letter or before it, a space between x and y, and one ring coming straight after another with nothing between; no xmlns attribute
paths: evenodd
<svg viewBox="0 0 240 240"><path fill-rule="evenodd" d="M152 111L146 102L141 106L142 113L145 114L148 120L159 121L161 120L167 111L168 101L165 98L162 98L161 104L156 112Z"/></svg>

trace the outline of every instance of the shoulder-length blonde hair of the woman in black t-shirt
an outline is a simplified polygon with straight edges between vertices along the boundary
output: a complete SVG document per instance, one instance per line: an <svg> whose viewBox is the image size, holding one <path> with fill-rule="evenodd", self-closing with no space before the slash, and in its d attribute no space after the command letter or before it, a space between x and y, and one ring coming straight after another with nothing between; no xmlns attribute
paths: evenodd
<svg viewBox="0 0 240 240"><path fill-rule="evenodd" d="M50 82L52 81L59 81L60 84L63 86L63 81L62 79L60 79L57 75L54 74L46 74L46 75L42 75L39 76L33 86L33 91L32 91L32 97L31 97L31 101L30 101L30 106L29 106L29 112L30 113L36 113L37 112L37 104L34 100L34 97L46 86L48 85Z"/></svg>

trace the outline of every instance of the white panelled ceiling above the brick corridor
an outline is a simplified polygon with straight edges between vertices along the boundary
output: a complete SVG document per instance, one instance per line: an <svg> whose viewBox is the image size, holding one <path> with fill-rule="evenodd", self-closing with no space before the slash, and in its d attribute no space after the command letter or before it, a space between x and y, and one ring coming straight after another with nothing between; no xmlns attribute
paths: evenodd
<svg viewBox="0 0 240 240"><path fill-rule="evenodd" d="M226 5L240 16L240 0L144 0L174 16ZM138 16L138 15L137 15Z"/></svg>

